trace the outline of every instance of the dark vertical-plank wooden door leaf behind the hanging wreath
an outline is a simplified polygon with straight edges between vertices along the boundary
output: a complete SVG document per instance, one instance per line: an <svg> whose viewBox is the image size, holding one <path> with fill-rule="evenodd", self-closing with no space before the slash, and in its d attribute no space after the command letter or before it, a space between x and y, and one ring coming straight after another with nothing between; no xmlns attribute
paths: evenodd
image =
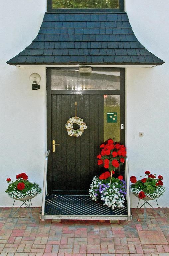
<svg viewBox="0 0 169 256"><path fill-rule="evenodd" d="M69 136L65 124L70 117L84 119L88 126L82 136ZM98 174L96 155L103 140L103 95L54 94L51 97L52 138L60 144L52 152L53 193L85 193ZM76 127L75 127L76 129Z"/></svg>

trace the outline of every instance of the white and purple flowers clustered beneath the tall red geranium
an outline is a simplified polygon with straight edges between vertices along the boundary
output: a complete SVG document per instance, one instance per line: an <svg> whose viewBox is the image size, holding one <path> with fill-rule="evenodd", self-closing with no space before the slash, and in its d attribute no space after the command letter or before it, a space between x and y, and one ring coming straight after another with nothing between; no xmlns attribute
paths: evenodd
<svg viewBox="0 0 169 256"><path fill-rule="evenodd" d="M122 177L122 176L119 176ZM114 208L124 208L126 184L124 180L112 178L100 180L94 176L89 189L89 196L97 201L100 197L103 205Z"/></svg>

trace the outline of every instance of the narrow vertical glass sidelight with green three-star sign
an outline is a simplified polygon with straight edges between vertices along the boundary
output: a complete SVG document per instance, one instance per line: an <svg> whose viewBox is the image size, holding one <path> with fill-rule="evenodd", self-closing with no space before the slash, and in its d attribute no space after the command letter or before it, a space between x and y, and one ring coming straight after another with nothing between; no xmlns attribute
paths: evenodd
<svg viewBox="0 0 169 256"><path fill-rule="evenodd" d="M104 95L104 141L120 141L120 95Z"/></svg>

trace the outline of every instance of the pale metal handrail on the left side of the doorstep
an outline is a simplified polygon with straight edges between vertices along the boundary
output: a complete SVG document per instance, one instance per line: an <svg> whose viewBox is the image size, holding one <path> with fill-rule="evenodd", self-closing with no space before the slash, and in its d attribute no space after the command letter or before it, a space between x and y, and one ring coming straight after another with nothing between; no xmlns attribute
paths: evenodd
<svg viewBox="0 0 169 256"><path fill-rule="evenodd" d="M45 197L46 197L46 184L47 184L47 170L48 170L48 156L50 150L48 149L45 156L45 165L44 165L44 182L43 182L43 192L42 192L42 212L41 212L41 220L45 219Z"/></svg>

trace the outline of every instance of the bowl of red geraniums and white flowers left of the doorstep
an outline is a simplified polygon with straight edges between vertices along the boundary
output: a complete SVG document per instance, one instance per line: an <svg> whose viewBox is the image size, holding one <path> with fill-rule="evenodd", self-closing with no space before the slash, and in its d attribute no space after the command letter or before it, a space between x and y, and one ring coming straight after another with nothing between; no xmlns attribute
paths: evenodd
<svg viewBox="0 0 169 256"><path fill-rule="evenodd" d="M10 184L5 192L15 200L29 200L42 191L37 183L28 180L28 176L24 172L16 175L16 181L11 182L10 178L7 178L6 181Z"/></svg>

